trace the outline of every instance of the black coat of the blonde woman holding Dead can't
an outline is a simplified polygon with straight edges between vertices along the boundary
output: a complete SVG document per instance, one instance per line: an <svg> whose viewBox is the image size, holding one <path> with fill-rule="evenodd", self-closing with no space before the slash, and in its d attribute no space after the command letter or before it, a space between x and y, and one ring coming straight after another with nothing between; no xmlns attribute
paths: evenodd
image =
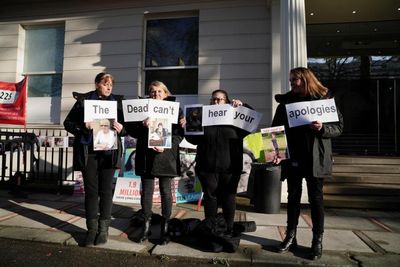
<svg viewBox="0 0 400 267"><path fill-rule="evenodd" d="M169 97L166 100L171 100ZM183 116L179 110L179 118ZM172 124L171 148L163 152L156 152L148 148L149 128L143 126L142 121L127 122L125 128L128 134L137 138L135 173L140 176L151 175L157 178L180 176L179 144L182 141L183 129L178 124Z"/></svg>

